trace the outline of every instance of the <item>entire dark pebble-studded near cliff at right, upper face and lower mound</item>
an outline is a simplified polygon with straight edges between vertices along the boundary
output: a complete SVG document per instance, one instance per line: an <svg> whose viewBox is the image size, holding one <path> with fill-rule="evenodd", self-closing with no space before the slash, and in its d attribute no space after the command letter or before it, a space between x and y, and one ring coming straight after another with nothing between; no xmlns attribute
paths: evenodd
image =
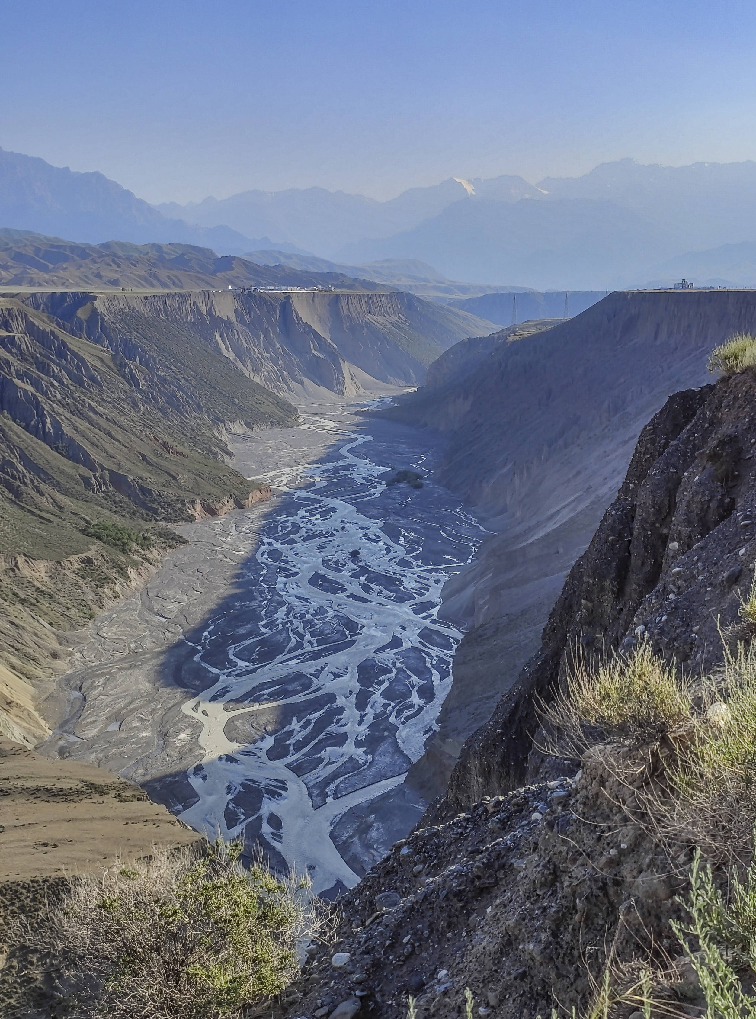
<svg viewBox="0 0 756 1019"><path fill-rule="evenodd" d="M676 393L645 426L540 650L465 745L445 798L341 900L338 942L311 954L285 1015L340 1015L339 1003L359 1001L361 1014L398 1019L412 996L419 1019L451 1019L467 987L476 1014L501 1019L552 1008L628 1019L643 1004L644 969L659 1008L650 1014L704 1014L703 981L669 925L685 916L696 842L662 837L636 797L654 773L663 785L659 762L674 744L593 746L576 774L536 749L536 708L564 689L576 653L590 673L612 651L627 662L647 637L678 677L699 677L721 663L722 635L752 640L739 610L755 522L751 368ZM725 869L714 859L716 887ZM604 974L635 991L591 1012Z"/></svg>

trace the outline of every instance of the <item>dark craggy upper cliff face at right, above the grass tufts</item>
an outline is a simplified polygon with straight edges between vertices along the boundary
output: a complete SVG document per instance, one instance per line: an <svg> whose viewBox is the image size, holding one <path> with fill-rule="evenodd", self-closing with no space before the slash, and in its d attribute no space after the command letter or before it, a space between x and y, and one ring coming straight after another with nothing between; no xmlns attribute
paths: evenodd
<svg viewBox="0 0 756 1019"><path fill-rule="evenodd" d="M754 575L755 451L752 370L669 398L570 571L540 649L465 744L432 816L545 773L532 745L537 703L564 682L575 654L590 663L634 646L638 632L680 668L721 661L721 634L737 634Z"/></svg>

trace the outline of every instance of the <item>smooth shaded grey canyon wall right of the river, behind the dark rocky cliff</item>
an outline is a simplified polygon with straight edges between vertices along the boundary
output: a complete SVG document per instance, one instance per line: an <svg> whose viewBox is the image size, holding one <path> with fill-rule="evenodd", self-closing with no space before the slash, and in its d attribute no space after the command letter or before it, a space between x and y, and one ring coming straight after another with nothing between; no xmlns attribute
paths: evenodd
<svg viewBox="0 0 756 1019"><path fill-rule="evenodd" d="M496 532L444 590L446 610L469 630L439 732L411 775L424 796L443 791L464 741L537 650L645 423L670 393L710 381L712 346L755 327L752 291L612 293L496 343L472 373L388 412L448 436L441 477Z"/></svg>

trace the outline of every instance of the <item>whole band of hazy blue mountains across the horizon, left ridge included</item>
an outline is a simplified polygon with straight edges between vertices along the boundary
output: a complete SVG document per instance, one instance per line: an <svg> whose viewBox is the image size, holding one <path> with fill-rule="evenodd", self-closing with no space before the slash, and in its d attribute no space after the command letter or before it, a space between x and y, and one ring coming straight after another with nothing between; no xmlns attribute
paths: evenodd
<svg viewBox="0 0 756 1019"><path fill-rule="evenodd" d="M386 202L310 187L151 206L101 173L0 150L0 226L88 243L192 244L221 255L284 252L325 259L336 271L424 262L428 281L435 272L491 289L598 290L681 274L746 285L756 283L748 250L756 245L756 163L623 159L537 184L457 177Z"/></svg>

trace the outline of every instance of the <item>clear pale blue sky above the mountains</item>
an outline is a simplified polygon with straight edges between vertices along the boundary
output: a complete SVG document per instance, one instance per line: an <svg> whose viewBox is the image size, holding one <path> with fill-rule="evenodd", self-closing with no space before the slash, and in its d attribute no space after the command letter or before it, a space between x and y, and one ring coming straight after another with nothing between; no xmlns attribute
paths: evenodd
<svg viewBox="0 0 756 1019"><path fill-rule="evenodd" d="M753 3L0 0L0 147L152 202L756 158Z"/></svg>

